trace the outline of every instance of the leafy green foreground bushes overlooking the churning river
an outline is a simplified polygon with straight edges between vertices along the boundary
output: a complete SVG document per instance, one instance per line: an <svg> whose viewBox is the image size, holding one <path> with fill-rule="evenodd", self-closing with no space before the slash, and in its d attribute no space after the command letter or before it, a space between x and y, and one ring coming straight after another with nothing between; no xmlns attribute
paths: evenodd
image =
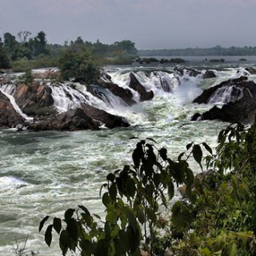
<svg viewBox="0 0 256 256"><path fill-rule="evenodd" d="M139 141L133 164L108 174L102 185L104 220L78 206L66 210L64 219L46 216L39 231L50 221L46 244L55 230L63 255L140 255L142 249L158 256L166 250L255 255L255 136L255 124L230 125L219 133L215 153L205 142L191 142L177 159L168 158L165 148L157 150L150 138ZM202 171L197 176L192 160ZM174 198L177 187L182 198Z"/></svg>

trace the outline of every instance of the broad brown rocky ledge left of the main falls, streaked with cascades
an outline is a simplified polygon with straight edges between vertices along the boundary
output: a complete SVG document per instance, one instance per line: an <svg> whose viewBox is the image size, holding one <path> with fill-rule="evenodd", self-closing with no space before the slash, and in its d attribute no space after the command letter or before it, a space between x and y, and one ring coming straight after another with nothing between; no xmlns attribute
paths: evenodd
<svg viewBox="0 0 256 256"><path fill-rule="evenodd" d="M35 74L34 74L35 75ZM40 73L40 77L35 77L34 82L18 82L13 86L11 95L4 93L0 87L0 127L26 127L28 130L98 130L100 127L113 129L115 127L130 126L126 118L107 113L105 110L90 106L88 98L82 91L76 90L74 84L70 84L70 89L65 89L58 82L49 83L47 74ZM48 79L49 80L49 79ZM12 86L11 80L2 80L2 86ZM75 90L84 99L75 107L69 108L66 112L59 113L54 104L54 86L62 86L63 94L72 102L78 102L77 95L71 95L70 90ZM131 106L136 102L130 89L122 88L111 82L110 76L102 75L98 81L98 86L85 85L87 92L94 96L106 100L108 92L120 98L124 104ZM138 82L134 74L130 74L130 88L136 90L140 95L140 101L153 98L153 91L146 89ZM10 101L12 100L12 102ZM63 103L64 104L64 103ZM15 106L14 106L15 105ZM26 115L34 118L33 122L26 120Z"/></svg>

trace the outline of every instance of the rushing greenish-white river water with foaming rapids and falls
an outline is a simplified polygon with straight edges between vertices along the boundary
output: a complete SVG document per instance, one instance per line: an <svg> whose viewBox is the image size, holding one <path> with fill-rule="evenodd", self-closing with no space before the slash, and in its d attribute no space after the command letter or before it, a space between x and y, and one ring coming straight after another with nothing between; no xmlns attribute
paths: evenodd
<svg viewBox="0 0 256 256"><path fill-rule="evenodd" d="M177 74L174 66L106 67L119 86L127 86L133 71L147 90L154 90L153 100L131 107L114 95L108 102L101 102L87 94L92 105L126 117L129 128L22 133L0 130L0 255L12 254L13 246L23 246L26 237L28 250L39 255L61 255L57 236L50 249L46 246L43 233L38 233L39 222L46 215L62 217L66 209L78 204L102 215L100 186L110 171L131 163L136 141L129 138L153 138L157 147L168 149L171 158L192 141L215 146L216 136L226 124L190 122L190 118L213 104L225 102L227 96L219 95L208 105L199 106L192 101L205 88L247 74L246 66L254 66L253 61L190 66L202 74L206 69L214 70L217 78L208 79L202 79L202 74ZM249 74L249 78L256 80L255 75ZM162 90L161 81L170 87L170 92ZM56 90L53 94L54 104L61 110L67 99ZM134 99L138 99L135 93Z"/></svg>

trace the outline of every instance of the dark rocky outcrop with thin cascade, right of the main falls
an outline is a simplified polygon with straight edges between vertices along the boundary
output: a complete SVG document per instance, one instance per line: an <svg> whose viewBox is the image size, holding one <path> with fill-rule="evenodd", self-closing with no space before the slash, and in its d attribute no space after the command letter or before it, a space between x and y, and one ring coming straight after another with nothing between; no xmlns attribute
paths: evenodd
<svg viewBox="0 0 256 256"><path fill-rule="evenodd" d="M226 98L225 95L227 94ZM192 121L222 120L223 122L254 122L256 116L256 84L248 78L230 79L204 90L194 102L214 103L222 97L222 107L214 106L203 114L194 114Z"/></svg>

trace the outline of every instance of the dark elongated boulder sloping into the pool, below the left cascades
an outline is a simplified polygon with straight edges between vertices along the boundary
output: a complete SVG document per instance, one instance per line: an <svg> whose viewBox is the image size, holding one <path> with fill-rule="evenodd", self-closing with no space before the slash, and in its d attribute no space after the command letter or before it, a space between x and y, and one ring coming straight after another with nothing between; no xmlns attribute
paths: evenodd
<svg viewBox="0 0 256 256"><path fill-rule="evenodd" d="M94 106L87 105L83 103L81 105L82 110L88 115L90 118L92 118L94 121L98 122L99 125L104 124L107 128L115 128L115 127L128 127L130 126L129 122L126 120L126 118L109 114L104 110L99 110L98 108Z"/></svg>

